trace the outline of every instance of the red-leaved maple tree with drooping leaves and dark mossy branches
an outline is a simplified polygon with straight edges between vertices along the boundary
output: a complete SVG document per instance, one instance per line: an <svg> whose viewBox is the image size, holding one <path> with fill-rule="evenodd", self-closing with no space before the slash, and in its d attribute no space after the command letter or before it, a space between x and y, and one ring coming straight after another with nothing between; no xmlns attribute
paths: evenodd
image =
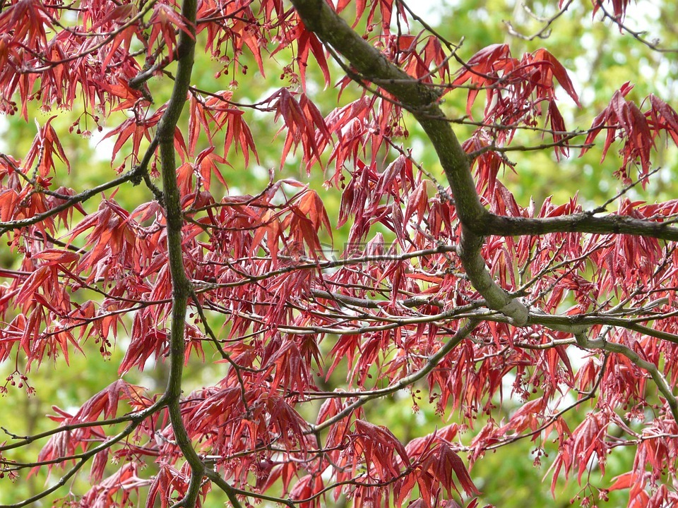
<svg viewBox="0 0 678 508"><path fill-rule="evenodd" d="M627 9L593 0L612 29L664 50L627 27ZM210 89L196 84L204 52L219 67ZM243 102L271 68L285 84ZM312 72L345 93L333 111L314 102ZM35 117L27 153L0 155L0 232L20 260L0 272L8 385L31 394L38 370L124 349L119 378L54 406L52 430L5 429L0 491L49 472L5 506L59 494L189 508L220 490L237 508L475 507L468 467L523 439L537 457L555 443L554 496L565 478L584 485L582 504L611 490L630 507L678 502L678 201L631 198L658 174L658 146L678 144L658 95L635 102L619 83L590 127L570 128L560 99L583 106L557 55L465 54L401 0L8 0L0 87L4 113L55 115ZM465 114L446 110L451 97ZM71 109L83 112L61 133L56 115ZM269 138L252 111L275 123ZM439 167L412 155L415 123ZM64 138L87 143L88 125L107 129L117 176L69 188L88 168ZM328 190L271 171L258 193L220 197L237 185L225 169L251 169L278 138L280 165L324 171ZM590 150L620 154L622 191L605 202L521 206L502 183L521 171L511 152L548 151L558 171ZM116 196L132 186L149 199L128 210ZM328 248L335 225L347 242ZM201 364L222 375L189 389L184 370ZM164 389L129 382L161 365ZM438 428L403 442L369 421L367 407L398 393L434 404ZM523 404L500 418L506 398ZM34 442L32 461L15 458ZM587 490L620 448L634 450L631 470ZM89 487L63 497L81 476Z"/></svg>

